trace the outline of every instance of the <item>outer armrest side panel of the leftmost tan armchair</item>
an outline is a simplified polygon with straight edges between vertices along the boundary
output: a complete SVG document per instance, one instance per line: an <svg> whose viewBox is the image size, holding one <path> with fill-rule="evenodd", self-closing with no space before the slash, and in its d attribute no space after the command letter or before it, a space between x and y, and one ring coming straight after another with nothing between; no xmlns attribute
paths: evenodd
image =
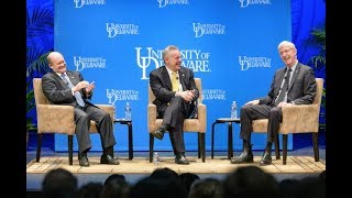
<svg viewBox="0 0 352 198"><path fill-rule="evenodd" d="M37 133L75 133L74 107L72 106L36 105L36 114Z"/></svg>

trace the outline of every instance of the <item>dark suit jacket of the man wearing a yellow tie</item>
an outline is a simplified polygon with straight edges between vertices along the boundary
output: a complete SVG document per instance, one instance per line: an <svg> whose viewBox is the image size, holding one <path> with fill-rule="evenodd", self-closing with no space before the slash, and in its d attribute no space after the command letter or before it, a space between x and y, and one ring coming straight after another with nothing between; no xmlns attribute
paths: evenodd
<svg viewBox="0 0 352 198"><path fill-rule="evenodd" d="M184 90L195 90L195 98L193 102L189 105L188 116L191 113L193 109L196 106L196 102L199 97L199 90L196 87L196 82L194 79L194 72L187 67L180 67L178 70L179 81L183 85ZM172 81L169 79L167 69L165 66L158 67L154 69L150 74L150 85L152 91L155 96L155 100L153 103L157 107L158 116L163 116L167 103L172 100L175 96L175 91L173 91ZM187 117L187 114L186 114Z"/></svg>

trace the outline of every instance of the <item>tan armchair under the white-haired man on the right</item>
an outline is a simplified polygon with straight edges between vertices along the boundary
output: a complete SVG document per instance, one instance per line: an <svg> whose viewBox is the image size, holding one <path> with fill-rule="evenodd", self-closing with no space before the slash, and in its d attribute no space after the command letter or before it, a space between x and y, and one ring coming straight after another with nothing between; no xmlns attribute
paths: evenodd
<svg viewBox="0 0 352 198"><path fill-rule="evenodd" d="M283 134L283 164L287 158L287 134L289 133L311 133L315 161L319 162L318 132L319 132L319 112L323 88L323 79L316 78L317 95L311 105L283 107L283 121L278 132ZM266 132L267 119L254 120L252 122L253 132ZM278 136L278 135L277 135ZM278 154L278 139L275 141L276 158Z"/></svg>

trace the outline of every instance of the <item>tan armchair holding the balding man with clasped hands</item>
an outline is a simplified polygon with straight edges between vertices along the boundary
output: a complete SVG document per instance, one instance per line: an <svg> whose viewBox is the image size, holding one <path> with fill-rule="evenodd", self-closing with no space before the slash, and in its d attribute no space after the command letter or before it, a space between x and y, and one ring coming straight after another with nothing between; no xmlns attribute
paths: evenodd
<svg viewBox="0 0 352 198"><path fill-rule="evenodd" d="M51 105L42 89L42 78L33 78L33 90L36 106L37 119L37 148L36 162L41 158L43 133L61 133L68 136L68 163L73 165L73 136L75 134L74 107ZM114 107L110 105L97 105L114 118ZM90 133L97 133L97 127L90 121Z"/></svg>

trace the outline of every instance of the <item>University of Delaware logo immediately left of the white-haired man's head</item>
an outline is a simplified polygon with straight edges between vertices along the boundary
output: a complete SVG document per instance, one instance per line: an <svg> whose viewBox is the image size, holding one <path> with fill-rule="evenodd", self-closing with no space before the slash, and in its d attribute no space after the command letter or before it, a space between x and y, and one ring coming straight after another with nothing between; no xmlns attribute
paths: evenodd
<svg viewBox="0 0 352 198"><path fill-rule="evenodd" d="M272 58L239 56L239 64L241 65L241 70L246 70L250 67L272 67Z"/></svg>

